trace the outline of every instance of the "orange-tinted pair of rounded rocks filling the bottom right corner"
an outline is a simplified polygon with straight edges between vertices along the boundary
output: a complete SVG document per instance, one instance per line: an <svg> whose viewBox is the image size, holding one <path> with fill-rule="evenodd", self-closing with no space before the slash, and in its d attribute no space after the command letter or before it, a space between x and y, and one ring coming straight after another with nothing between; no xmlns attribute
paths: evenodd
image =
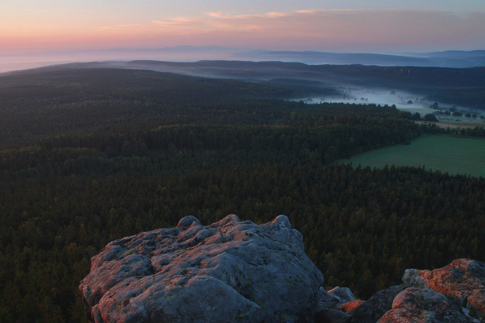
<svg viewBox="0 0 485 323"><path fill-rule="evenodd" d="M406 288L380 323L478 322L485 320L485 263L456 259L433 271L408 269Z"/></svg>

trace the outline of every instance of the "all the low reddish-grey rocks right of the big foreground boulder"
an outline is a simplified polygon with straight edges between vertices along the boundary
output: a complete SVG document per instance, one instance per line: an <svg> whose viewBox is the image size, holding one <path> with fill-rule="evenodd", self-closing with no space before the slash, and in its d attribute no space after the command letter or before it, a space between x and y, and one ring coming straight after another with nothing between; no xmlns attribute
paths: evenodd
<svg viewBox="0 0 485 323"><path fill-rule="evenodd" d="M408 269L402 285L381 290L367 301L351 295L340 287L320 289L315 322L485 322L485 263L456 259L433 271Z"/></svg>

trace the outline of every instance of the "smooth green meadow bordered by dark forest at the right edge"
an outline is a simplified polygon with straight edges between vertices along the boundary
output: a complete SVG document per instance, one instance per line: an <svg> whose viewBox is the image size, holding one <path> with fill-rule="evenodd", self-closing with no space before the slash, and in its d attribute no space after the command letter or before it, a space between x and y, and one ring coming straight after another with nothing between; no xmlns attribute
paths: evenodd
<svg viewBox="0 0 485 323"><path fill-rule="evenodd" d="M380 148L345 160L354 166L424 166L450 175L485 177L485 139L422 135L410 145Z"/></svg>

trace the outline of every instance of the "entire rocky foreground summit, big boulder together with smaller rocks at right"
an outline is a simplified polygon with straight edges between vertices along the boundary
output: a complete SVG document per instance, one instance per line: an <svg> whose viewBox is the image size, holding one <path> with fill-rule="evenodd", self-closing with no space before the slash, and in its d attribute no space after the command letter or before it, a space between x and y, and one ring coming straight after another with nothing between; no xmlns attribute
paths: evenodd
<svg viewBox="0 0 485 323"><path fill-rule="evenodd" d="M358 278L356 278L358 279ZM408 269L368 300L335 287L307 257L288 218L257 225L231 214L109 243L81 281L91 322L485 322L485 263Z"/></svg>

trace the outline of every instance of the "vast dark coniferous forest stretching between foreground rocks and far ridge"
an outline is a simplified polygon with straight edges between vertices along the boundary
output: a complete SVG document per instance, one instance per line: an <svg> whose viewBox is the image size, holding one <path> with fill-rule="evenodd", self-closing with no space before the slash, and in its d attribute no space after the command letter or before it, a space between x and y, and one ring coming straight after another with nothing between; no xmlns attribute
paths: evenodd
<svg viewBox="0 0 485 323"><path fill-rule="evenodd" d="M366 299L406 268L485 260L485 179L335 164L409 143L395 106L283 100L332 89L118 69L0 76L0 322L84 322L108 242L235 213L288 216L325 286Z"/></svg>

